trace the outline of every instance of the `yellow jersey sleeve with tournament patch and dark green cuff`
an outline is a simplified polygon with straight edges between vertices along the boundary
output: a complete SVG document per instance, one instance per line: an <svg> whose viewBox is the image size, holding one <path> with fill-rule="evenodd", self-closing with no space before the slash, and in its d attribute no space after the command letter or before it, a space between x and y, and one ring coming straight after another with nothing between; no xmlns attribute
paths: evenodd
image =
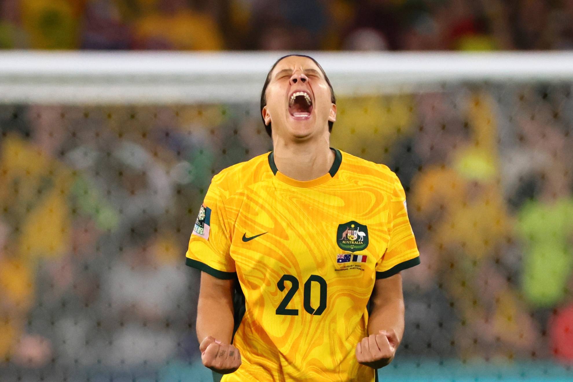
<svg viewBox="0 0 573 382"><path fill-rule="evenodd" d="M189 239L186 264L221 279L236 277L223 192L211 182Z"/></svg>

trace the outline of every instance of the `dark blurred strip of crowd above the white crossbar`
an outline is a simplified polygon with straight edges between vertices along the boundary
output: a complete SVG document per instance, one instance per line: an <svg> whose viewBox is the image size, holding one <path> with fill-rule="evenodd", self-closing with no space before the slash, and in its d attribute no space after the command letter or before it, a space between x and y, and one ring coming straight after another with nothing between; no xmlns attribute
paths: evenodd
<svg viewBox="0 0 573 382"><path fill-rule="evenodd" d="M0 48L572 49L573 0L2 0Z"/></svg>

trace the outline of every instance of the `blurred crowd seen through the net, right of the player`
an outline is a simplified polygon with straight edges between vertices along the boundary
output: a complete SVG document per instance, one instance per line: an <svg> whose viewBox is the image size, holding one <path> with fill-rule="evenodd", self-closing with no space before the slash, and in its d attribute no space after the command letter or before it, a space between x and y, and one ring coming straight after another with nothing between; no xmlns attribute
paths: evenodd
<svg viewBox="0 0 573 382"><path fill-rule="evenodd" d="M573 363L571 86L345 104L335 147L388 164L406 190L422 265L405 272L405 348Z"/></svg>

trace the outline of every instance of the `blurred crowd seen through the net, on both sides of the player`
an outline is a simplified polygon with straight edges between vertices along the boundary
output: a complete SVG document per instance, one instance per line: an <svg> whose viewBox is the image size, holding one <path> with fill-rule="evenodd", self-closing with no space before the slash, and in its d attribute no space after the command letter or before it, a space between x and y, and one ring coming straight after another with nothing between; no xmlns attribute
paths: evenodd
<svg viewBox="0 0 573 382"><path fill-rule="evenodd" d="M573 363L571 84L337 104L331 145L407 193L401 357ZM257 105L1 105L0 132L0 374L203 370L184 253L211 177L271 148Z"/></svg>

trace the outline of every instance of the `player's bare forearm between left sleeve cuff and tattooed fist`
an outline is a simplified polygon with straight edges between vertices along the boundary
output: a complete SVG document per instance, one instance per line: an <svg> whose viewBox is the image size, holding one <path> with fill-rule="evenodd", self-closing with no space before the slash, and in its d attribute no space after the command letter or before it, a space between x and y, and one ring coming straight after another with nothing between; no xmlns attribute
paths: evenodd
<svg viewBox="0 0 573 382"><path fill-rule="evenodd" d="M197 306L197 338L201 343L211 336L225 344L231 343L234 325L233 283L221 281L213 288L213 277L202 273Z"/></svg>

